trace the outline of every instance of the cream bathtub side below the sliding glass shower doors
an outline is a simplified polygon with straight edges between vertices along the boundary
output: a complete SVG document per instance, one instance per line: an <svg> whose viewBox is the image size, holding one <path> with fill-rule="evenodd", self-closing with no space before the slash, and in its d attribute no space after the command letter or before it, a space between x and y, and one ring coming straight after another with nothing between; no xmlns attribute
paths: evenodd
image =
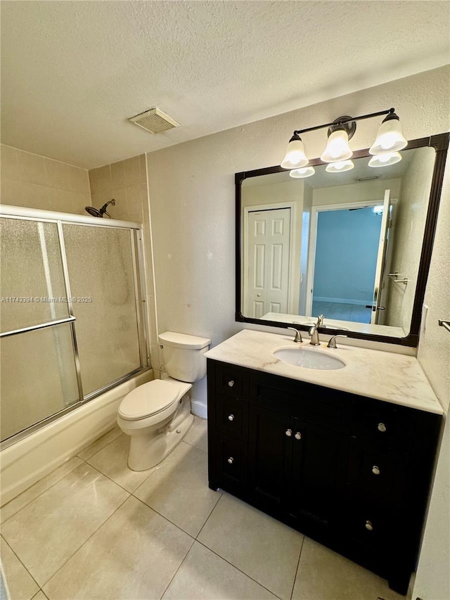
<svg viewBox="0 0 450 600"><path fill-rule="evenodd" d="M124 395L152 379L145 371L2 450L0 505L112 429Z"/></svg>

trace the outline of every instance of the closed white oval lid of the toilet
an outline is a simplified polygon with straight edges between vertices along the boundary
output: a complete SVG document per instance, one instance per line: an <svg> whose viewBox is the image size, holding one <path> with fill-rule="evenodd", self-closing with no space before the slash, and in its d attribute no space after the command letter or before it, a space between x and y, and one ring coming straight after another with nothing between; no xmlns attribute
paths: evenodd
<svg viewBox="0 0 450 600"><path fill-rule="evenodd" d="M127 421L143 419L169 407L178 395L176 383L155 379L129 392L120 403L119 414Z"/></svg>

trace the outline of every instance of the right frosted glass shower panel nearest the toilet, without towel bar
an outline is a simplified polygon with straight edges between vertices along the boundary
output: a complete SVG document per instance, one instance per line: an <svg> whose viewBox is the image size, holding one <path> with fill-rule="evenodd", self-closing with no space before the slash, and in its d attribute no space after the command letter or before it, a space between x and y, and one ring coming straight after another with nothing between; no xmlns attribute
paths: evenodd
<svg viewBox="0 0 450 600"><path fill-rule="evenodd" d="M63 224L84 396L139 371L134 231Z"/></svg>

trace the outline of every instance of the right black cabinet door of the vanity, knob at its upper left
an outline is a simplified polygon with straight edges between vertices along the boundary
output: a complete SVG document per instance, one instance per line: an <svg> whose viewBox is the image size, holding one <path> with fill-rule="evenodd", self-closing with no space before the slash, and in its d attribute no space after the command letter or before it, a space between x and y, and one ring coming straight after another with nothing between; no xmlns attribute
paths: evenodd
<svg viewBox="0 0 450 600"><path fill-rule="evenodd" d="M348 440L298 419L292 439L290 514L328 525L342 505Z"/></svg>

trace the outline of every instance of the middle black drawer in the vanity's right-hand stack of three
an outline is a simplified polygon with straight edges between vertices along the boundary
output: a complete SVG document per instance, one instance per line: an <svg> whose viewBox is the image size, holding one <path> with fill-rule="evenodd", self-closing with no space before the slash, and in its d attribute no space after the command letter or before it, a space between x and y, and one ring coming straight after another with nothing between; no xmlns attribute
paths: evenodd
<svg viewBox="0 0 450 600"><path fill-rule="evenodd" d="M371 497L381 504L401 504L406 496L408 457L401 452L382 454L350 442L347 483L358 496Z"/></svg>

